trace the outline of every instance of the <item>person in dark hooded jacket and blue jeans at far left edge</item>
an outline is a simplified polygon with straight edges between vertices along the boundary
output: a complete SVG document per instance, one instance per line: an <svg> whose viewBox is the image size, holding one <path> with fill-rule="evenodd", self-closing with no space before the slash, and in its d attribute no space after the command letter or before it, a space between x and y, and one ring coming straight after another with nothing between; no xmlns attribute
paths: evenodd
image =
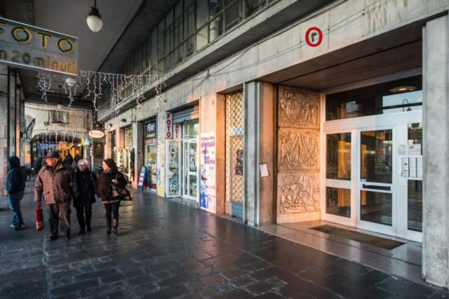
<svg viewBox="0 0 449 299"><path fill-rule="evenodd" d="M20 168L20 159L11 156L6 160L9 164L8 175L6 175L6 192L8 192L9 206L14 213L9 226L14 227L15 230L22 230L22 228L25 228L25 223L23 222L22 211L20 211L20 201L25 191L25 180Z"/></svg>

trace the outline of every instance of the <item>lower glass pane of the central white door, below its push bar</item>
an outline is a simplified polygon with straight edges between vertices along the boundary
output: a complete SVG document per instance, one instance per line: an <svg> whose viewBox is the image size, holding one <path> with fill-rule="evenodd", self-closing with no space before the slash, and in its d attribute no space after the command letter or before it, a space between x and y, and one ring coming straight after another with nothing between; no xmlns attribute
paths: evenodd
<svg viewBox="0 0 449 299"><path fill-rule="evenodd" d="M391 193L361 190L360 200L361 220L382 225L392 225L393 195Z"/></svg>

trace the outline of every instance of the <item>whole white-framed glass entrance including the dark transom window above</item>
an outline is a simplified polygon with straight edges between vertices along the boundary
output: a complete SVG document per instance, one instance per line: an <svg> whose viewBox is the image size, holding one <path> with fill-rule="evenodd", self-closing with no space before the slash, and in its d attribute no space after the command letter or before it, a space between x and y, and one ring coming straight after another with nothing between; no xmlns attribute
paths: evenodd
<svg viewBox="0 0 449 299"><path fill-rule="evenodd" d="M327 94L323 131L323 220L422 241L422 77Z"/></svg>

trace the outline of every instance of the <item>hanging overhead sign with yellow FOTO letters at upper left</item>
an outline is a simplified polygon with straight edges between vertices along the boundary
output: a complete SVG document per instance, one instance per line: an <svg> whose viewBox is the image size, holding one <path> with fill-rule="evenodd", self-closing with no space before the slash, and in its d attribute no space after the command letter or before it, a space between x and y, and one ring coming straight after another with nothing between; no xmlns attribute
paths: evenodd
<svg viewBox="0 0 449 299"><path fill-rule="evenodd" d="M0 18L0 62L58 74L78 73L78 38Z"/></svg>

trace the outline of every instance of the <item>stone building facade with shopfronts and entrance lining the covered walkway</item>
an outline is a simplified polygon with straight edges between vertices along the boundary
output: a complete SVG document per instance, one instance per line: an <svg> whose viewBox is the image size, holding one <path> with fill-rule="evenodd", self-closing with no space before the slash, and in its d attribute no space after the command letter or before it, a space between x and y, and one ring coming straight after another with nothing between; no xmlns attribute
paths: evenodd
<svg viewBox="0 0 449 299"><path fill-rule="evenodd" d="M249 2L180 0L148 32L118 72L165 74L162 98L100 102L105 158L248 225L422 242L449 286L449 1Z"/></svg>

